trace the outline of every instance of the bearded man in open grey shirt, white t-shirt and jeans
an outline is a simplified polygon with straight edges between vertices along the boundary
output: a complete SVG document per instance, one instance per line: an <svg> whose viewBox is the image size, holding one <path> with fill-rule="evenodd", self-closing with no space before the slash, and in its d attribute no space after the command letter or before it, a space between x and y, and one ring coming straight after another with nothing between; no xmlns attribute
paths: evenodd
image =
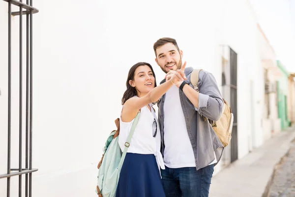
<svg viewBox="0 0 295 197"><path fill-rule="evenodd" d="M154 43L155 61L169 78L182 66L183 52L173 38ZM164 170L161 170L166 197L208 197L214 165L223 145L204 117L220 119L224 102L213 75L202 70L199 92L190 84L192 67L178 70L186 80L174 85L160 100L159 124ZM164 79L161 83L163 83Z"/></svg>

